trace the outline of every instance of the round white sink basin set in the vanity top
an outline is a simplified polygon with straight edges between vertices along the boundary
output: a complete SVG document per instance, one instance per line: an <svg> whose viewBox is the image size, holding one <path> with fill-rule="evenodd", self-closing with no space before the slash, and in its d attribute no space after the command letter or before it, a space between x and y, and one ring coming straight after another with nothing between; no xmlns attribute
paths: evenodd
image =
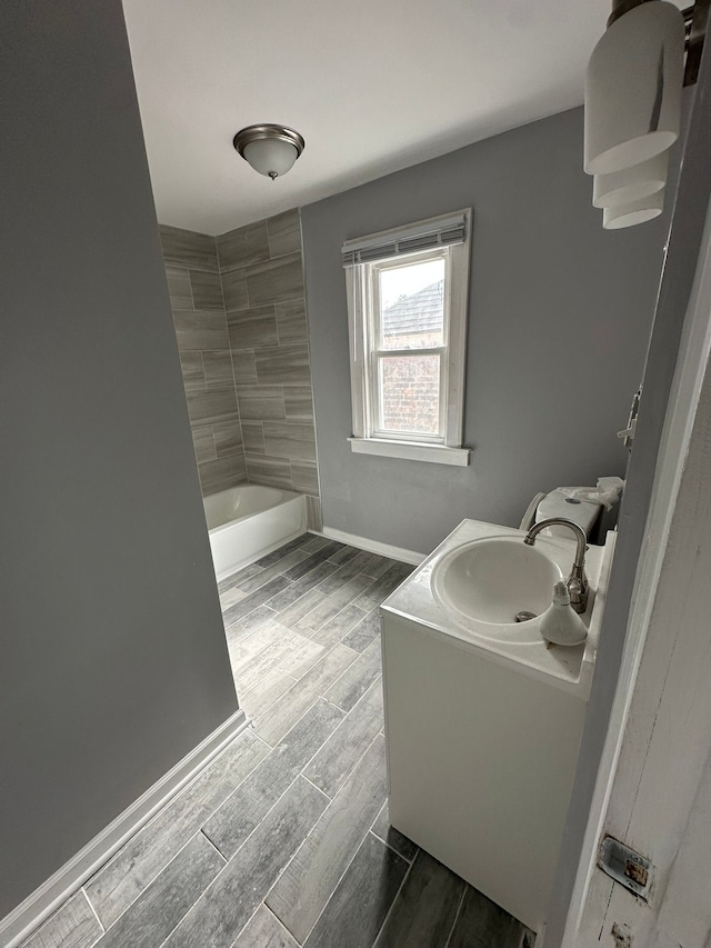
<svg viewBox="0 0 711 948"><path fill-rule="evenodd" d="M455 621L499 626L491 632L505 636L517 612L548 609L561 579L560 567L520 537L482 537L445 553L431 581L435 600Z"/></svg>

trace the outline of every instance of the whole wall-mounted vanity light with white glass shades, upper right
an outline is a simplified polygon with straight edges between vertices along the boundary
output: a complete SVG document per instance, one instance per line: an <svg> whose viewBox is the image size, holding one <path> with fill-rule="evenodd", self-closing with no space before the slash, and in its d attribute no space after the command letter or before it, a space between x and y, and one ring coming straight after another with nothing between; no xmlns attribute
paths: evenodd
<svg viewBox="0 0 711 948"><path fill-rule="evenodd" d="M662 212L682 84L695 81L709 2L682 12L665 0L613 0L585 76L584 169L605 229Z"/></svg>

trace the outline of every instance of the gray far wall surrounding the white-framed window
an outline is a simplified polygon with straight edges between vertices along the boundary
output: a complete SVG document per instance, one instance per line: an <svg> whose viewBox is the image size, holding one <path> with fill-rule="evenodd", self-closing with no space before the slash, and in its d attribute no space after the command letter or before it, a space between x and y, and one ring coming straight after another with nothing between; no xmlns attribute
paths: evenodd
<svg viewBox="0 0 711 948"><path fill-rule="evenodd" d="M664 219L603 231L582 172L582 109L302 208L327 527L420 552L464 517L518 526L533 493L622 475ZM468 468L353 455L343 240L474 213Z"/></svg>

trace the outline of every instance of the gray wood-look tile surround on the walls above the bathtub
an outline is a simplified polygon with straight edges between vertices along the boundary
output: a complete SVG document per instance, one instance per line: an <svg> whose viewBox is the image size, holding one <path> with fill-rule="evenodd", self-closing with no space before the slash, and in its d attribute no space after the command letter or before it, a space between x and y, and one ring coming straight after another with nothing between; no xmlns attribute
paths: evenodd
<svg viewBox="0 0 711 948"><path fill-rule="evenodd" d="M320 529L299 211L160 233L202 493L297 490Z"/></svg>

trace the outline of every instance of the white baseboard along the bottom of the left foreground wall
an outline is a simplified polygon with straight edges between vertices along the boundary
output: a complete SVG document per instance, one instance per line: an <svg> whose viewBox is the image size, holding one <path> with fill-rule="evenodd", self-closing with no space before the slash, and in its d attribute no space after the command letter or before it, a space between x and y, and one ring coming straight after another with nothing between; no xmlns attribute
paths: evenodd
<svg viewBox="0 0 711 948"><path fill-rule="evenodd" d="M0 920L0 946L16 948L73 895L123 844L138 832L171 797L192 780L237 735L248 719L240 708L208 735L187 757L153 784L131 806Z"/></svg>

